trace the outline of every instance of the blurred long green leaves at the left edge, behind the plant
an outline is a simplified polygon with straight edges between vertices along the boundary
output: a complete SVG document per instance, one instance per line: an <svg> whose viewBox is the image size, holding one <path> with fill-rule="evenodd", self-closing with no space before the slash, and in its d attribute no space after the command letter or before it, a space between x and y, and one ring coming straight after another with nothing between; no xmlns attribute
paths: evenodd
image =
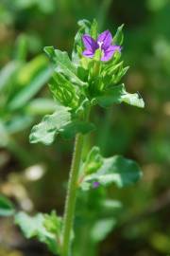
<svg viewBox="0 0 170 256"><path fill-rule="evenodd" d="M26 39L24 35L18 38L14 58L0 72L0 144L9 150L13 150L16 133L29 127L36 116L55 110L54 102L46 99L48 108L45 103L30 111L33 98L51 77L51 68L42 54L26 63Z"/></svg>

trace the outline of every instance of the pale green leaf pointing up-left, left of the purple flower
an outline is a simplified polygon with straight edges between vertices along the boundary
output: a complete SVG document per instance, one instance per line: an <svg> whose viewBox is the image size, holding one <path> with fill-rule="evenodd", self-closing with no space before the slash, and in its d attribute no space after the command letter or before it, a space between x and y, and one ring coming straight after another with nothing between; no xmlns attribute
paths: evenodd
<svg viewBox="0 0 170 256"><path fill-rule="evenodd" d="M70 61L68 53L66 51L54 49L53 46L44 47L44 51L55 64L55 71L57 73L61 73L62 75L67 77L70 82L76 83L77 85L87 85L86 82L82 82L76 76L76 67Z"/></svg>

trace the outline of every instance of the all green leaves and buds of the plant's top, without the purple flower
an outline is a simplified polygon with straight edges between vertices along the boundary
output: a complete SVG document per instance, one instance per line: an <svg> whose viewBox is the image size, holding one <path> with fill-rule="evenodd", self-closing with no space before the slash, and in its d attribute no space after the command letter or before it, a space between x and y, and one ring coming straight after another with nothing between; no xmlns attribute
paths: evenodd
<svg viewBox="0 0 170 256"><path fill-rule="evenodd" d="M80 28L76 34L72 61L65 51L62 52L53 46L44 47L53 67L49 88L54 99L63 107L53 115L44 117L42 122L32 129L30 135L32 143L41 141L44 144L51 144L59 133L68 138L79 132L85 134L93 130L92 124L81 120L87 111L87 105L91 108L98 103L106 107L112 103L127 102L144 107L144 101L138 94L127 93L124 84L115 86L128 69L120 61L120 53L115 53L108 63L100 61L100 49L95 51L93 59L87 59L82 55L82 34L90 33L96 38L96 21L93 20L91 25L90 22L82 20L78 25ZM123 26L118 27L114 37L114 41L120 45L123 43L122 28Z"/></svg>

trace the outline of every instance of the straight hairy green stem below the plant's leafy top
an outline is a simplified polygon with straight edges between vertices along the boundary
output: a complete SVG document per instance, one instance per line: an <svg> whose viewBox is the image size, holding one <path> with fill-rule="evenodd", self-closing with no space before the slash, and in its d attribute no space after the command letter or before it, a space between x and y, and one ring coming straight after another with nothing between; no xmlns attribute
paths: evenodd
<svg viewBox="0 0 170 256"><path fill-rule="evenodd" d="M89 117L87 112L86 119ZM81 161L81 155L83 151L84 136L81 134L76 135L75 149L72 159L70 177L68 182L68 190L64 209L64 222L63 222L63 233L62 233L62 247L61 256L69 256L71 247L71 232L73 228L75 208L76 208L76 190L77 190L77 179L78 171Z"/></svg>

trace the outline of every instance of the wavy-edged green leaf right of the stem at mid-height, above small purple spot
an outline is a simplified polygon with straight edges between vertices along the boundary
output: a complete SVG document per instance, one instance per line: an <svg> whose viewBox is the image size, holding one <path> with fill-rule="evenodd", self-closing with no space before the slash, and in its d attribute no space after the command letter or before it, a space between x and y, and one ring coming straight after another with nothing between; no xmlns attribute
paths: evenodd
<svg viewBox="0 0 170 256"><path fill-rule="evenodd" d="M84 178L80 178L80 187L82 190L89 190L96 182L103 186L114 183L118 188L122 188L137 182L141 176L141 169L135 161L115 155L104 158L102 166L95 173L84 174Z"/></svg>

